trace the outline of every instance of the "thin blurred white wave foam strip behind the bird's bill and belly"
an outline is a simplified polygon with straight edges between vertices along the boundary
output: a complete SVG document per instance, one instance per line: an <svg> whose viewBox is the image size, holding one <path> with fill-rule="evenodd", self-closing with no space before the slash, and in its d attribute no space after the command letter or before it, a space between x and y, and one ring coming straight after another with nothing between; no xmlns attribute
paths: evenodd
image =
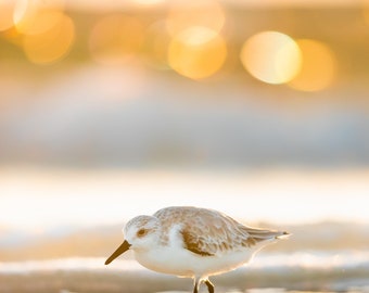
<svg viewBox="0 0 369 293"><path fill-rule="evenodd" d="M38 270L99 270L105 269L103 257L66 257L43 260L0 262L0 273L24 273ZM246 270L303 268L311 270L368 269L369 251L304 251L294 253L259 253ZM143 270L136 260L117 259L113 270Z"/></svg>

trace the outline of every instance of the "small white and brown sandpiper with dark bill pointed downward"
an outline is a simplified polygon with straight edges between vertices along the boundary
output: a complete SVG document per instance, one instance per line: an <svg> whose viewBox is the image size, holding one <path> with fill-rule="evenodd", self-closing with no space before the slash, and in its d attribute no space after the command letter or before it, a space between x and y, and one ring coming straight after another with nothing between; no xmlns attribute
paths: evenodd
<svg viewBox="0 0 369 293"><path fill-rule="evenodd" d="M289 235L288 232L244 226L214 209L171 206L153 216L129 220L125 241L105 265L131 249L144 267L194 280L193 293L204 282L209 293L209 276L236 269L247 263L266 244Z"/></svg>

